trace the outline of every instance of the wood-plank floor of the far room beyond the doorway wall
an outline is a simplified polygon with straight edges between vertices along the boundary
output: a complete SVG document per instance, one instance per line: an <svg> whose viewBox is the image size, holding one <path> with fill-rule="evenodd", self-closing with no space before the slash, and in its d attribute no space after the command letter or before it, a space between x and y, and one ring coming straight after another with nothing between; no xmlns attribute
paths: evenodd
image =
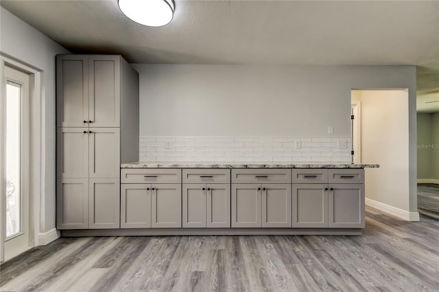
<svg viewBox="0 0 439 292"><path fill-rule="evenodd" d="M439 219L439 185L418 184L418 212Z"/></svg>

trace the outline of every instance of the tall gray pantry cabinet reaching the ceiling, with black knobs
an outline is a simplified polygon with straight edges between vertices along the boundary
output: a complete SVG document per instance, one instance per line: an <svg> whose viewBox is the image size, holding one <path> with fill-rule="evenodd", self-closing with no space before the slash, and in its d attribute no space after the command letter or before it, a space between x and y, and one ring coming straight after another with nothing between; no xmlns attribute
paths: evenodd
<svg viewBox="0 0 439 292"><path fill-rule="evenodd" d="M139 160L139 74L120 55L57 55L56 126L57 228L119 228L120 164Z"/></svg>

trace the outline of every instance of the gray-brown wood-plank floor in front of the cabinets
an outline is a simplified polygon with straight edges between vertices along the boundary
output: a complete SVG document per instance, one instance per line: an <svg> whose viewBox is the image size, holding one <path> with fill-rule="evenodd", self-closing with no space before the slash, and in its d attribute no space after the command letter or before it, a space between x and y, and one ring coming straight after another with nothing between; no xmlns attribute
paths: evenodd
<svg viewBox="0 0 439 292"><path fill-rule="evenodd" d="M439 224L366 210L361 236L62 238L1 291L439 291Z"/></svg>

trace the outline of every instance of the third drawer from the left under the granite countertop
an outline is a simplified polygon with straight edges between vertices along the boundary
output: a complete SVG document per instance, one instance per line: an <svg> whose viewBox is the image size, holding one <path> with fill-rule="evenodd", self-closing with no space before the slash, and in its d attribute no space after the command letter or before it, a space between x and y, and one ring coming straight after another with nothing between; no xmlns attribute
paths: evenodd
<svg viewBox="0 0 439 292"><path fill-rule="evenodd" d="M235 169L232 183L291 183L290 169Z"/></svg>

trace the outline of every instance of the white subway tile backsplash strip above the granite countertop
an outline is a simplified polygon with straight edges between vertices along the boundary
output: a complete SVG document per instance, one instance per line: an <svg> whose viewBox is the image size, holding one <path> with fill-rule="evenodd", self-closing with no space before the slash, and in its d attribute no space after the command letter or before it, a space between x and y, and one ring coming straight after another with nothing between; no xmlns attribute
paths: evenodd
<svg viewBox="0 0 439 292"><path fill-rule="evenodd" d="M338 148L338 140L347 148ZM296 148L300 142L300 148ZM169 148L166 146L169 145ZM145 136L139 157L147 162L351 162L347 137Z"/></svg>

